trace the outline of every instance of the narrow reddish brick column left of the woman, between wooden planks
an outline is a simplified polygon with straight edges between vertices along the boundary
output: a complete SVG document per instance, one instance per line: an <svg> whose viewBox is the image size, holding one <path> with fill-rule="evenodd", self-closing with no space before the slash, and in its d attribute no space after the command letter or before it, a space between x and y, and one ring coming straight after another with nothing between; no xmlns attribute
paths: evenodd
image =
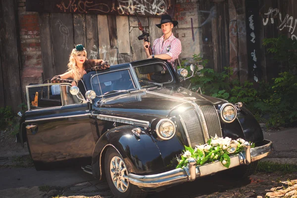
<svg viewBox="0 0 297 198"><path fill-rule="evenodd" d="M19 31L22 53L21 85L42 82L42 56L37 12L26 12L26 0L18 0ZM24 96L24 94L23 94Z"/></svg>

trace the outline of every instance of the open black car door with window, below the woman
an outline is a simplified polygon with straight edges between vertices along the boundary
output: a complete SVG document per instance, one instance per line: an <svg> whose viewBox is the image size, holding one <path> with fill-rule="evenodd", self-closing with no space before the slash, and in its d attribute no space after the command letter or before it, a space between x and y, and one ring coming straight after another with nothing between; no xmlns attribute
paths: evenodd
<svg viewBox="0 0 297 198"><path fill-rule="evenodd" d="M35 108L25 113L27 141L35 167L43 170L90 164L95 141L89 104L70 94L70 84L39 86L41 90L36 95L40 97L27 97L28 106ZM27 96L30 88L33 87L26 88Z"/></svg>

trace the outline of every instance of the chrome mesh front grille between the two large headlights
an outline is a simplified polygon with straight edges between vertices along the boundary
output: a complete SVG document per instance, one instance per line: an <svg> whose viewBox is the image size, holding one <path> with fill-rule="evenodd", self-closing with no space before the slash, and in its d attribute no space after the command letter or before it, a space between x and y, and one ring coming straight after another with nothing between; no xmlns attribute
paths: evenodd
<svg viewBox="0 0 297 198"><path fill-rule="evenodd" d="M180 115L182 125L185 129L186 136L190 147L195 148L197 145L203 145L217 134L218 137L222 137L222 131L220 128L220 121L216 109L214 106L206 105L200 106L202 115L204 116L205 124L208 130L208 137L205 138L202 123L199 119L199 112L195 108L190 108ZM202 121L203 122L203 121Z"/></svg>

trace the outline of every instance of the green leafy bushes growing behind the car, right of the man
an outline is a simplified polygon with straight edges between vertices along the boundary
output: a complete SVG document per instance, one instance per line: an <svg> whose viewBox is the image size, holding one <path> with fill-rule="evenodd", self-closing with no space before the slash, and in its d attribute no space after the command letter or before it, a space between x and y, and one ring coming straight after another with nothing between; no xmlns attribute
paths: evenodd
<svg viewBox="0 0 297 198"><path fill-rule="evenodd" d="M278 53L285 50L281 46L281 41L266 39L266 46L274 45L276 49L268 48L271 53ZM291 42L291 41L285 41ZM297 42L296 42L297 43ZM295 44L289 49L295 49ZM232 79L233 68L224 67L220 73L213 69L207 68L208 60L203 60L199 54L194 54L196 65L203 65L203 69L197 72L197 75L191 78L192 91L202 93L204 95L225 99L229 102L243 102L244 105L255 115L256 119L265 122L267 127L286 126L297 121L297 75L294 72L294 64L296 70L297 56L292 55L292 50L288 51L286 61L286 72L279 74L273 79L272 83L259 82L256 86L252 82L246 81L243 84L237 79ZM274 56L277 60L284 59L285 54L280 53ZM296 61L296 62L294 62ZM294 63L293 63L294 62ZM186 61L182 61L182 67L185 67ZM292 65L293 66L292 66ZM190 66L185 67L190 71ZM292 70L292 71L291 71ZM191 72L189 72L190 74ZM255 89L255 87L257 87Z"/></svg>

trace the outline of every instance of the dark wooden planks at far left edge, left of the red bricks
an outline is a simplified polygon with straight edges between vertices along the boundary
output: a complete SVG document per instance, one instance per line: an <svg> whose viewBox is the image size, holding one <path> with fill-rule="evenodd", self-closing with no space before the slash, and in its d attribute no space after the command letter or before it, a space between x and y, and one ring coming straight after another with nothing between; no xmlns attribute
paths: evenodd
<svg viewBox="0 0 297 198"><path fill-rule="evenodd" d="M0 97L0 106L11 106L14 112L19 110L18 105L22 103L16 10L16 1L1 0L0 93L3 93L3 97Z"/></svg>

